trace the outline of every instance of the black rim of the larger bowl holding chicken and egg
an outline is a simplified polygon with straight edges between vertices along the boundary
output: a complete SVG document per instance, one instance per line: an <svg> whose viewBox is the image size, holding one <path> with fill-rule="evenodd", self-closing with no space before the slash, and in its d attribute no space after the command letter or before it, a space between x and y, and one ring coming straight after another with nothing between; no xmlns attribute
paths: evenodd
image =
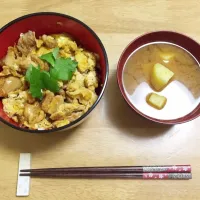
<svg viewBox="0 0 200 200"><path fill-rule="evenodd" d="M79 124L84 118L86 118L90 113L91 111L97 106L97 104L99 103L99 101L101 100L103 94L104 94L104 91L105 91L105 88L106 88L106 85L107 85L107 82L108 82L108 75L109 75L109 63L108 63L108 56L107 56L107 53L106 53L106 50L105 50L105 47L103 45L103 43L101 42L100 38L97 36L97 34L88 26L86 25L84 22L82 22L81 20L79 19L76 19L70 15L66 15L66 14L63 14L63 13L57 13L57 12L35 12L35 13L30 13L30 14L27 14L27 15L23 15L21 17L18 17L12 21L10 21L9 23L7 23L6 25L4 25L2 28L0 28L0 34L5 30L7 29L8 27L10 27L11 25L15 24L16 22L19 22L21 20L24 20L26 18L31 18L33 16L42 16L42 15L55 15L55 16L61 16L61 17L64 17L64 18L67 18L67 19L71 19L73 21L76 21L77 23L81 24L82 26L84 26L93 36L94 38L97 40L97 42L99 43L102 51L103 51L103 55L105 57L105 65L106 65L106 73L105 73L105 81L103 83L103 87L102 87L102 90L101 90L101 93L98 95L98 98L97 100L95 101L95 103L88 109L88 111L86 113L84 113L81 117L79 117L78 119L76 119L75 121L71 122L70 124L67 124L65 126L62 126L62 127L59 127L59 128L53 128L53 129L49 129L49 130L30 130L30 129L26 129L26 128L22 128L22 127L18 127L18 126L15 126L9 122L7 122L6 120L4 120L2 117L0 117L0 121L3 122L4 124L14 128L14 129L17 129L19 131L24 131L24 132L29 132L29 133L51 133L51 132L58 132L58 131L62 131L62 130L65 130L67 128L73 128L73 126L75 124Z"/></svg>

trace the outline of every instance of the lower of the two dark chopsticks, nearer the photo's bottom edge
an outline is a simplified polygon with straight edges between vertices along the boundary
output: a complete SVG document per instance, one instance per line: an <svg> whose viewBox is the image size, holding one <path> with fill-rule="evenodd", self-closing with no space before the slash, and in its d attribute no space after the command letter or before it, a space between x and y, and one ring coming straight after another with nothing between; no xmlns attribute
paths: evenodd
<svg viewBox="0 0 200 200"><path fill-rule="evenodd" d="M128 179L179 179L189 180L191 173L65 173L65 172L29 172L20 176L39 178L128 178Z"/></svg>

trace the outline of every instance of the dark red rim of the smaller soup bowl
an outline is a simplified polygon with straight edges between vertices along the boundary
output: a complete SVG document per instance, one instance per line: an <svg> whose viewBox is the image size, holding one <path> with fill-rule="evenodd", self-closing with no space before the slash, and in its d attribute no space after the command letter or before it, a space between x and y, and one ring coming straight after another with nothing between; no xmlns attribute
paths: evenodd
<svg viewBox="0 0 200 200"><path fill-rule="evenodd" d="M157 118L153 118L149 115L145 115L144 113L142 113L140 110L138 110L128 99L125 91L124 91L124 86L122 84L122 82L120 81L120 77L122 77L122 74L123 74L123 70L122 70L122 73L120 73L120 68L123 68L124 65L122 66L121 64L121 61L124 57L124 54L126 53L126 51L129 49L129 47L135 43L138 39L142 38L142 37L145 37L146 35L149 35L149 34L155 34L155 33L174 33L174 34L177 34L177 35L181 35L185 38L188 38L190 39L191 41L195 42L196 44L198 44L200 46L200 43L198 43L196 40L194 40L192 37L189 37L185 34L182 34L182 33L179 33L179 32L176 32L176 31L170 31L170 30L158 30L158 31L151 31L151 32L147 32L147 33L144 33L142 35L139 35L138 37L136 37L135 39L133 39L131 42L129 42L129 44L125 47L125 49L123 50L123 52L121 53L120 55L120 58L119 58L119 61L118 61L118 64L117 64L117 83L118 83L118 87L120 89L120 92L121 92L121 95L123 96L124 100L126 101L126 103L130 106L130 108L132 110L134 110L137 114L139 114L140 116L148 119L148 120L151 120L153 122L157 122L157 123L160 123L160 124L168 124L168 125L175 125L175 124L182 124L182 123L185 123L185 122L189 122L189 121L192 121L194 119L196 119L197 117L200 116L200 113L194 115L194 116L189 116L191 115L191 113L196 113L198 111L198 107L200 105L200 103L197 105L197 107L192 110L190 113L188 113L187 115L184 115L180 118L176 118L176 119L170 119L170 120L161 120L161 119L157 119ZM139 47L138 47L139 48ZM128 59L128 58L127 58ZM186 117L188 116L188 117Z"/></svg>

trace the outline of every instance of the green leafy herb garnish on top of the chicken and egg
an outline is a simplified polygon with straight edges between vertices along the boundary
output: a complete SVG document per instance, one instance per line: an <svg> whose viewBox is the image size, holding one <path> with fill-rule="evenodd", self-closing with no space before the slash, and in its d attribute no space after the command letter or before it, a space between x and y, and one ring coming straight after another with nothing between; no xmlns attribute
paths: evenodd
<svg viewBox="0 0 200 200"><path fill-rule="evenodd" d="M30 65L26 71L25 79L30 83L30 93L33 97L42 99L42 89L54 93L59 91L59 80L70 80L78 63L70 58L57 58L59 48L42 55L40 58L50 64L50 72L41 71L40 66Z"/></svg>

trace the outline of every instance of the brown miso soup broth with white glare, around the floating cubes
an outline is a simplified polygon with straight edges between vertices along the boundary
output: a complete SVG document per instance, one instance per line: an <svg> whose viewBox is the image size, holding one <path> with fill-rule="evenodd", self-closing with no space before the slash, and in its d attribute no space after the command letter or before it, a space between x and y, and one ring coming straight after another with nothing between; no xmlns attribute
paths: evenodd
<svg viewBox="0 0 200 200"><path fill-rule="evenodd" d="M158 92L168 101L163 110L155 110L145 100L149 93L156 92L150 83L156 63L175 74L170 83ZM188 51L171 43L150 43L134 51L125 64L123 84L133 105L144 114L158 119L183 117L200 102L199 63Z"/></svg>

